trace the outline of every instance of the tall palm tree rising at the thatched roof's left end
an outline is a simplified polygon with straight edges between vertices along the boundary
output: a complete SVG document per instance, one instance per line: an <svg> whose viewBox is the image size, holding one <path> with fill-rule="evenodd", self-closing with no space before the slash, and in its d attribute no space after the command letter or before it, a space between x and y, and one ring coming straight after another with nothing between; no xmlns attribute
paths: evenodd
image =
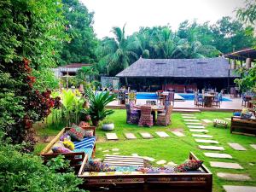
<svg viewBox="0 0 256 192"><path fill-rule="evenodd" d="M137 59L135 50L138 48L138 42L134 39L125 37L125 26L123 29L113 27L114 38L105 38L102 43L103 55L102 60L107 62L107 73L109 67L120 65L123 69L129 67L131 59ZM127 79L125 83L128 84Z"/></svg>

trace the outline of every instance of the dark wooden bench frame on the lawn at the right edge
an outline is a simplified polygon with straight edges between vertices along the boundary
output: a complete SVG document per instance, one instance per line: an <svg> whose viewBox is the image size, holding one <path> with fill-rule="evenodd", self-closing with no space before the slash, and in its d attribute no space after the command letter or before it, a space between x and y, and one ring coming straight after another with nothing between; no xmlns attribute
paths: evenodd
<svg viewBox="0 0 256 192"><path fill-rule="evenodd" d="M242 119L241 117L233 116L231 118L230 133L235 130L245 130L256 133L256 119Z"/></svg>

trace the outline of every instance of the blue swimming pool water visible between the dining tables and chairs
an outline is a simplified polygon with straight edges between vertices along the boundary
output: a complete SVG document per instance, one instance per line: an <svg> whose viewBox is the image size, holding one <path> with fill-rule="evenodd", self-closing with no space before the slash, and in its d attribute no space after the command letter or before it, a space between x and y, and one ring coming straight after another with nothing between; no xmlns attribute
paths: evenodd
<svg viewBox="0 0 256 192"><path fill-rule="evenodd" d="M178 93L178 96L182 96L185 101L193 101L194 100L194 94L187 94L187 93ZM148 99L148 100L154 100L157 99L156 93L137 93L137 99ZM223 102L232 102L229 98L223 97Z"/></svg>

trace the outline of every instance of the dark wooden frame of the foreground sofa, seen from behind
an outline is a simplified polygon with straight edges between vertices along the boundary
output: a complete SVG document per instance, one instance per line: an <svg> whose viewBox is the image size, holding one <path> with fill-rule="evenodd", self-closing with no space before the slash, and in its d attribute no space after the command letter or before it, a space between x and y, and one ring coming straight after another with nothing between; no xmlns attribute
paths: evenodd
<svg viewBox="0 0 256 192"><path fill-rule="evenodd" d="M195 154L189 154L189 159L197 160ZM212 173L202 165L203 172L179 172L166 174L123 174L90 176L84 174L87 156L79 170L79 177L84 179L83 188L92 191L151 191L151 192L212 192Z"/></svg>

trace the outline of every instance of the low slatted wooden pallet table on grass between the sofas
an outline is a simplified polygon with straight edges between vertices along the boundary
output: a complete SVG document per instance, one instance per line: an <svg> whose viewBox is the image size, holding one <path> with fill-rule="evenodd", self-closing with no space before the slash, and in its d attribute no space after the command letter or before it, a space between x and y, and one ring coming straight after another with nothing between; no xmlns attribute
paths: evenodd
<svg viewBox="0 0 256 192"><path fill-rule="evenodd" d="M120 156L120 155L106 155L104 163L109 166L144 166L142 157Z"/></svg>

